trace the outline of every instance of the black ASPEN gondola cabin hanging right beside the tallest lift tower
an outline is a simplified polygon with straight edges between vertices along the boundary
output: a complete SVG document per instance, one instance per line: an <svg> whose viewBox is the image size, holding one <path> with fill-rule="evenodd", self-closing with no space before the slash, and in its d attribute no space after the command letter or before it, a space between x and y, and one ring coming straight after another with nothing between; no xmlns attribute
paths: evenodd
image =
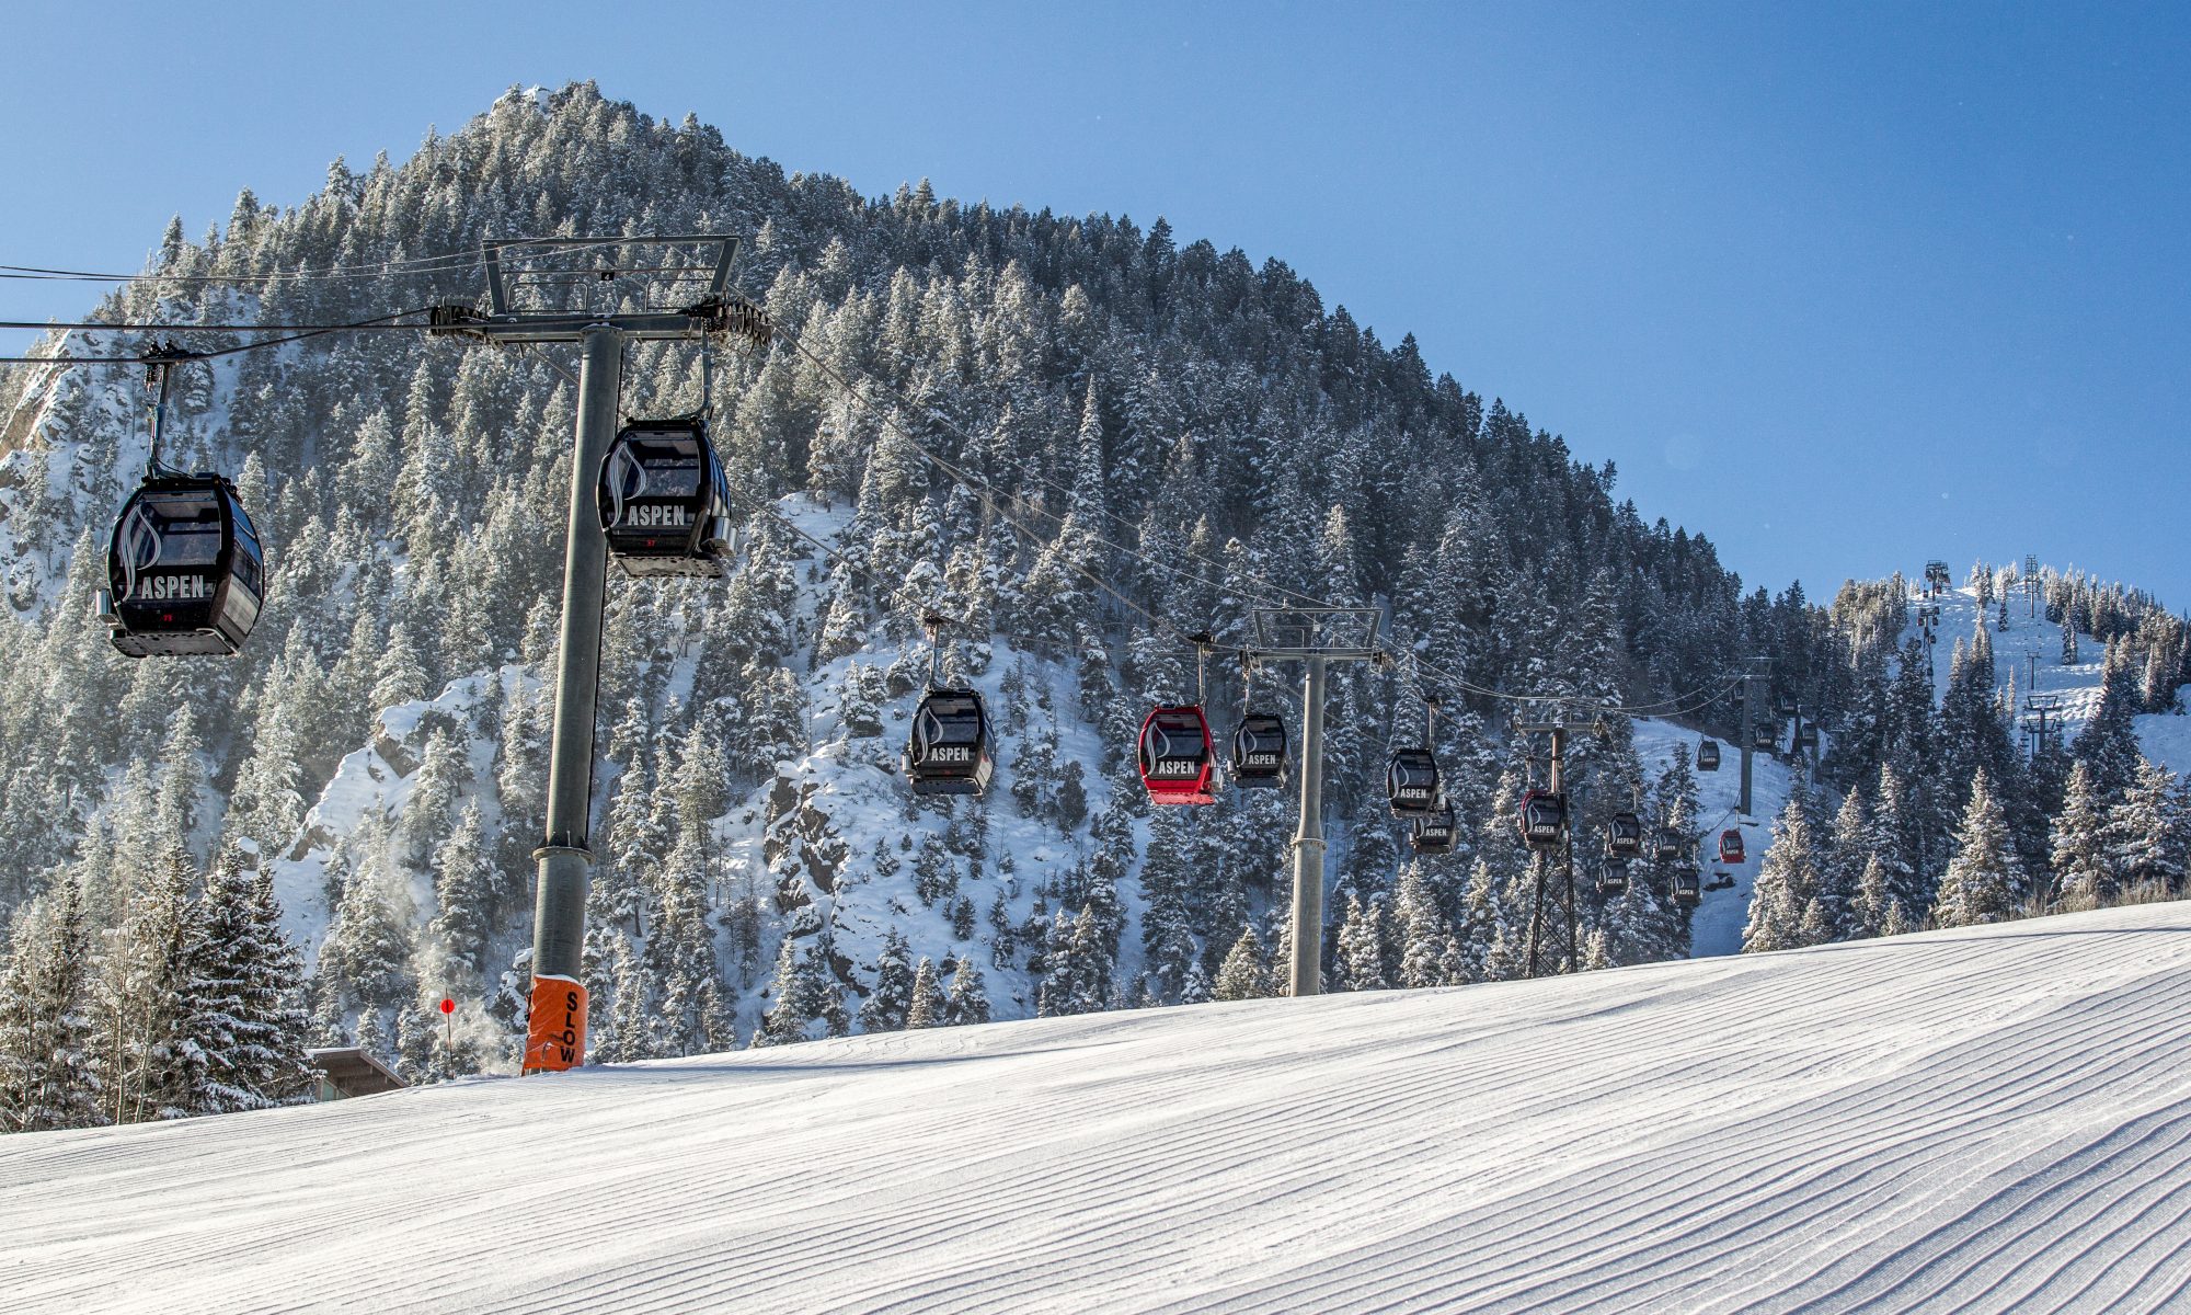
<svg viewBox="0 0 2191 1315"><path fill-rule="evenodd" d="M719 576L738 552L708 423L635 421L600 462L600 533L631 576Z"/></svg>

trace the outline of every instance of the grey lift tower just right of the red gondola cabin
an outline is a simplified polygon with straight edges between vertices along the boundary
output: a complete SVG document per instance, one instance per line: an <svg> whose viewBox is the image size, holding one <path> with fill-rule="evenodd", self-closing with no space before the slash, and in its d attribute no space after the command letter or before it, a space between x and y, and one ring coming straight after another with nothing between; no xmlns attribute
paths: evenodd
<svg viewBox="0 0 2191 1315"><path fill-rule="evenodd" d="M1374 662L1378 607L1258 607L1255 662L1306 662L1301 824L1293 833L1290 995L1323 991L1323 677L1332 662Z"/></svg>

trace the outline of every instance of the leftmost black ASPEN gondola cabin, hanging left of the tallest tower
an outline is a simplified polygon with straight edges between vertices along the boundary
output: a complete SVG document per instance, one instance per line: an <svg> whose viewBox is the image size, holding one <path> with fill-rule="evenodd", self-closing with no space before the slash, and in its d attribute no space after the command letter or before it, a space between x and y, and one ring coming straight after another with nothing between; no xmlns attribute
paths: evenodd
<svg viewBox="0 0 2191 1315"><path fill-rule="evenodd" d="M129 658L226 658L265 601L265 552L223 476L151 476L107 544L99 620Z"/></svg>

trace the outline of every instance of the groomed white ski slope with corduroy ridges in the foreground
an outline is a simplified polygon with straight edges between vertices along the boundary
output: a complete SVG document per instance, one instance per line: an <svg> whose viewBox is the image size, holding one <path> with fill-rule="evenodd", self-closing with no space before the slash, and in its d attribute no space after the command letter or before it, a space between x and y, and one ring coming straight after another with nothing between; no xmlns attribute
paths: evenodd
<svg viewBox="0 0 2191 1315"><path fill-rule="evenodd" d="M2182 1311L2191 905L0 1137L9 1311Z"/></svg>

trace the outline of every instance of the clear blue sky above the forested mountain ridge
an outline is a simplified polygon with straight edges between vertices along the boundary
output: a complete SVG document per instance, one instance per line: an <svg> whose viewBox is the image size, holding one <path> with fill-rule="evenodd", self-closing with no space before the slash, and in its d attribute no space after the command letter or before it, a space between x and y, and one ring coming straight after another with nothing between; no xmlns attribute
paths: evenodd
<svg viewBox="0 0 2191 1315"><path fill-rule="evenodd" d="M592 77L868 193L1280 256L1751 583L2038 552L2191 605L2187 4L598 11L18 0L0 263L136 267Z"/></svg>

